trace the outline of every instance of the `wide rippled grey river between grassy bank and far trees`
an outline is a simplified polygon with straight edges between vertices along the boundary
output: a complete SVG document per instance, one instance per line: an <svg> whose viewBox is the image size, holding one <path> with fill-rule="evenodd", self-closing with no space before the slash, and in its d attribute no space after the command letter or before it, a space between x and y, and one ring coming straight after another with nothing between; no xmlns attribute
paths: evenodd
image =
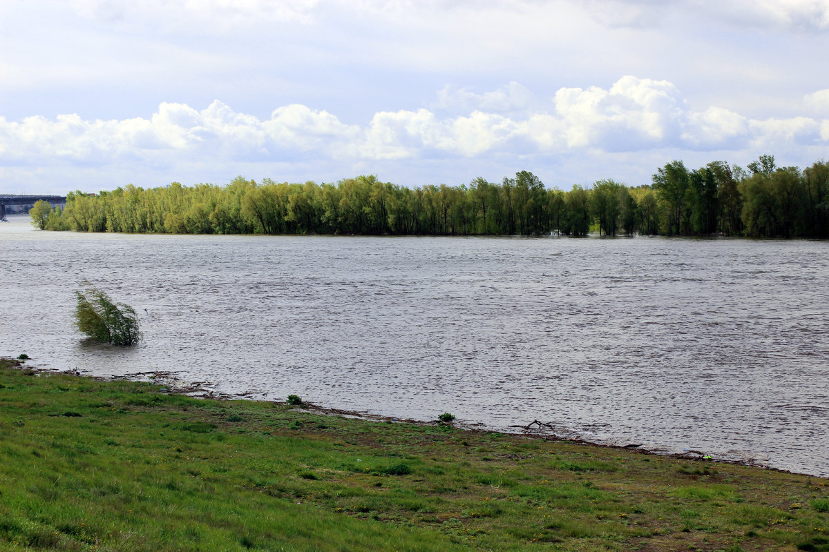
<svg viewBox="0 0 829 552"><path fill-rule="evenodd" d="M49 233L0 223L0 355L829 476L829 243ZM72 326L89 280L135 348ZM514 430L514 429L512 429Z"/></svg>

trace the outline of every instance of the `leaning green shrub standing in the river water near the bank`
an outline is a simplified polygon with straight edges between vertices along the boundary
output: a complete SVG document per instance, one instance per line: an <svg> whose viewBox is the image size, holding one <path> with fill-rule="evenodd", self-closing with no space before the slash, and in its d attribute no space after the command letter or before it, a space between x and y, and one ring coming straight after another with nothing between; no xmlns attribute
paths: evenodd
<svg viewBox="0 0 829 552"><path fill-rule="evenodd" d="M114 303L103 291L84 282L85 291L75 291L75 326L101 343L134 345L141 340L138 316L133 307Z"/></svg>

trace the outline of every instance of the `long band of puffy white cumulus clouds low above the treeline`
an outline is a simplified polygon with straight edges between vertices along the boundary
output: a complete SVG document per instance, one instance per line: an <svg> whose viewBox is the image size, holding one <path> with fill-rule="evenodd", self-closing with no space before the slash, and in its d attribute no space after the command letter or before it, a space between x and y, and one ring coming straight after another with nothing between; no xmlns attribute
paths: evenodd
<svg viewBox="0 0 829 552"><path fill-rule="evenodd" d="M515 89L523 87L511 84L494 93L473 94L473 100L479 105L484 98L500 101L510 97L505 91ZM820 103L826 92L809 97ZM492 103L499 105L503 103ZM402 109L378 112L365 125L354 125L298 103L276 108L262 119L216 100L201 110L161 103L148 118L0 118L0 164L17 170L66 163L109 167L128 161L171 171L193 163L481 163L492 156L513 161L564 154L648 157L655 151L710 151L720 157L724 151L749 149L753 157L768 151L825 150L827 142L825 118L753 119L717 106L694 111L670 82L633 76L618 79L608 89L562 88L549 110L509 116L476 109L441 118L425 108Z"/></svg>

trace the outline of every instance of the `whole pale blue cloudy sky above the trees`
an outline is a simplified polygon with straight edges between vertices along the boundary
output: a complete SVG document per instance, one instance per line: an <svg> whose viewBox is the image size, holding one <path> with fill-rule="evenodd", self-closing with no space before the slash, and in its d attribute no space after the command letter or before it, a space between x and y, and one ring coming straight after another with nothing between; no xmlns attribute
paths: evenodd
<svg viewBox="0 0 829 552"><path fill-rule="evenodd" d="M0 193L829 158L829 0L2 0Z"/></svg>

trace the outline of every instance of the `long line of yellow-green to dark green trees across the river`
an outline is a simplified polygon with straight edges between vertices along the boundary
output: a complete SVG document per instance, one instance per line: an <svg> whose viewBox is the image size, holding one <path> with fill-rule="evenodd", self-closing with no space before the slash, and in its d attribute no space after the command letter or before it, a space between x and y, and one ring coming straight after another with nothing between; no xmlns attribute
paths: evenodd
<svg viewBox="0 0 829 552"><path fill-rule="evenodd" d="M127 233L493 235L829 235L829 163L806 170L760 156L747 170L714 161L659 168L650 185L599 180L548 189L522 170L501 183L410 189L375 175L318 185L237 177L225 186L133 185L46 204L33 223L50 230Z"/></svg>

